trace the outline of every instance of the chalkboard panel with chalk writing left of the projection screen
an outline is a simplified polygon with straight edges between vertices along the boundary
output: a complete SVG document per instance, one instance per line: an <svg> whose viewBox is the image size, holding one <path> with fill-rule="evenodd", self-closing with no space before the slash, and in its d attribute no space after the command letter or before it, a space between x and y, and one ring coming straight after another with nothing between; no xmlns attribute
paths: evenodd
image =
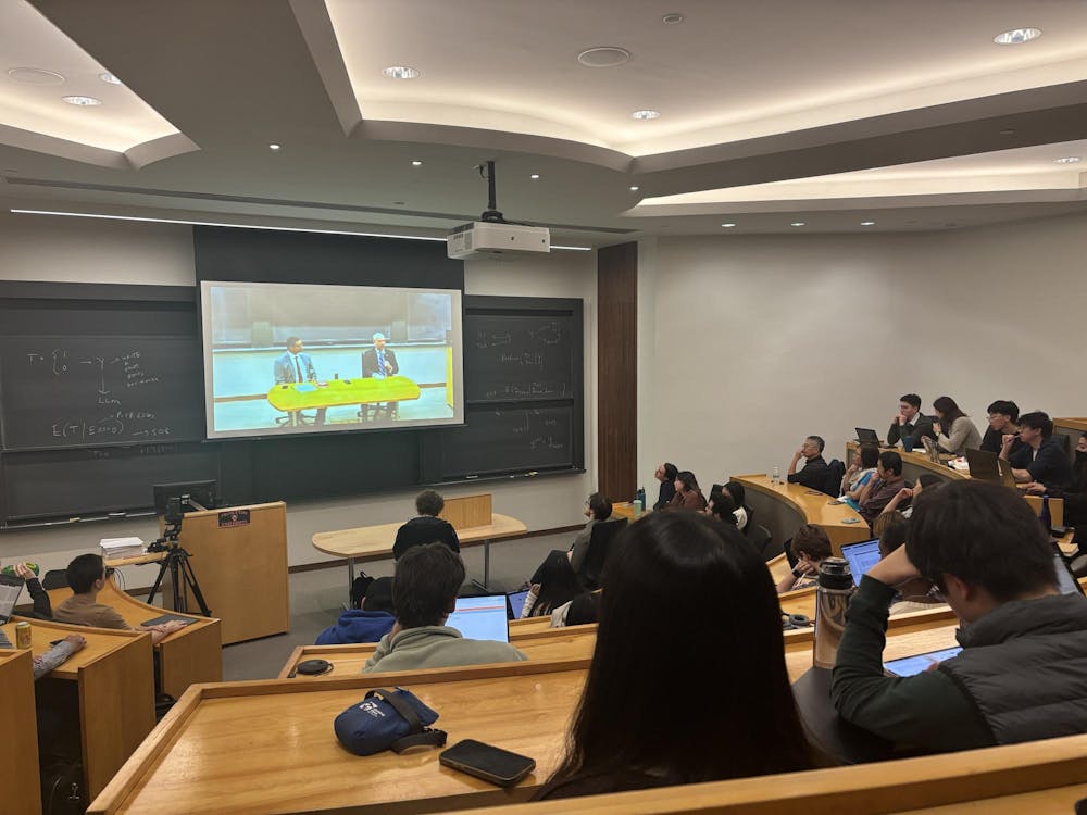
<svg viewBox="0 0 1087 815"><path fill-rule="evenodd" d="M202 439L202 376L195 337L7 337L3 449Z"/></svg>

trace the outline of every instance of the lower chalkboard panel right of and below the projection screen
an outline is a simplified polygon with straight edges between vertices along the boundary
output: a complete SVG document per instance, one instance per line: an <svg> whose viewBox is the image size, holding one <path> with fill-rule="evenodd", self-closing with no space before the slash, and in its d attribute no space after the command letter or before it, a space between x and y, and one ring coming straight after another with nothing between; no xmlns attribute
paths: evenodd
<svg viewBox="0 0 1087 815"><path fill-rule="evenodd" d="M571 405L473 410L464 427L445 431L446 479L575 467Z"/></svg>

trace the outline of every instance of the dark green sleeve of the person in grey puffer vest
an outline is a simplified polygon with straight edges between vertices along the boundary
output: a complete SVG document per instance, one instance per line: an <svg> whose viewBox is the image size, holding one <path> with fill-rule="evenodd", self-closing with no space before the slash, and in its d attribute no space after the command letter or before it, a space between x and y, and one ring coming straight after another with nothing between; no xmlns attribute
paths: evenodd
<svg viewBox="0 0 1087 815"><path fill-rule="evenodd" d="M864 577L846 615L830 679L842 718L894 741L934 751L991 747L992 734L973 701L940 670L889 677L883 669L895 589Z"/></svg>

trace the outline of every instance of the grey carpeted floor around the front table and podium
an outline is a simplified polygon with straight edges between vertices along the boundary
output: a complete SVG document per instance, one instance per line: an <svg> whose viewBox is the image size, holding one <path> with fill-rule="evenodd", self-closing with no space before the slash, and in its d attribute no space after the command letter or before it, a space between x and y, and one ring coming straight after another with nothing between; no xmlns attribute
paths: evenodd
<svg viewBox="0 0 1087 815"><path fill-rule="evenodd" d="M524 582L552 549L565 550L575 532L499 541L490 548L490 588L496 593L513 591ZM483 547L462 551L468 579L483 579ZM364 564L374 577L392 575L392 561ZM223 649L223 679L274 679L290 652L311 644L322 630L336 622L347 601L347 566L299 572L290 575L290 632L238 642Z"/></svg>

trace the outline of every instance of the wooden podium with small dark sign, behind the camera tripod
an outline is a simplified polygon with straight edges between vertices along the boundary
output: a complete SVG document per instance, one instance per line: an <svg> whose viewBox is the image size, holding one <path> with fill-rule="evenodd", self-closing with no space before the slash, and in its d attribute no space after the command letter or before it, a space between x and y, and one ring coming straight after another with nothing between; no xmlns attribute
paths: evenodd
<svg viewBox="0 0 1087 815"><path fill-rule="evenodd" d="M223 623L224 645L290 630L283 501L186 513L178 541L211 615ZM170 595L166 586L163 600ZM191 595L188 609L200 613Z"/></svg>

